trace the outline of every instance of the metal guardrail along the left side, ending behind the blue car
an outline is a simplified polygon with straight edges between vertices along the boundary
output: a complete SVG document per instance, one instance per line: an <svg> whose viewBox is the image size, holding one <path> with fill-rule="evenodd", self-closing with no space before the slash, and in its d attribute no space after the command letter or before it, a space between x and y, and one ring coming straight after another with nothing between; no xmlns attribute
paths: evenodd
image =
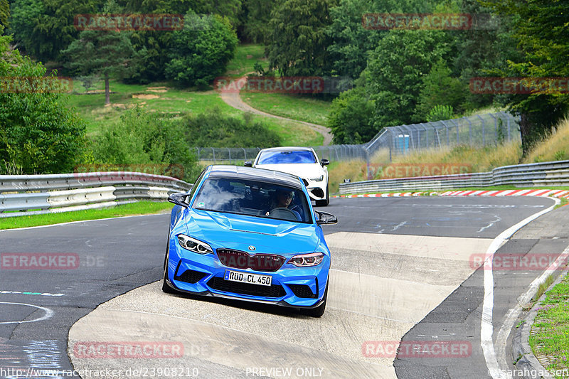
<svg viewBox="0 0 569 379"><path fill-rule="evenodd" d="M0 218L166 200L191 186L170 176L138 172L0 175Z"/></svg>

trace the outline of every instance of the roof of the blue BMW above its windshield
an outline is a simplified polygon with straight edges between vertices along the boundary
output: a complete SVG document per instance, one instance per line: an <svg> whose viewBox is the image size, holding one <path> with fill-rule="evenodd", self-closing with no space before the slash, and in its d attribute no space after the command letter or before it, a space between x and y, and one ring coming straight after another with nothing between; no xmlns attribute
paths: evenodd
<svg viewBox="0 0 569 379"><path fill-rule="evenodd" d="M280 171L229 165L213 165L209 166L208 169L208 178L251 179L302 189L302 184L298 176Z"/></svg>

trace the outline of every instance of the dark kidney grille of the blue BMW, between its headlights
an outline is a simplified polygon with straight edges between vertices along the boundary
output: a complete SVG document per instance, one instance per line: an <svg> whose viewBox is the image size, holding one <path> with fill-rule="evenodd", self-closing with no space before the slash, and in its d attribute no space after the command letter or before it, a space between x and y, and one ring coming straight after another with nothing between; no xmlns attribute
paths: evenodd
<svg viewBox="0 0 569 379"><path fill-rule="evenodd" d="M219 262L236 269L254 269L255 271L275 272L285 264L286 258L274 254L249 255L247 252L230 249L218 249Z"/></svg>

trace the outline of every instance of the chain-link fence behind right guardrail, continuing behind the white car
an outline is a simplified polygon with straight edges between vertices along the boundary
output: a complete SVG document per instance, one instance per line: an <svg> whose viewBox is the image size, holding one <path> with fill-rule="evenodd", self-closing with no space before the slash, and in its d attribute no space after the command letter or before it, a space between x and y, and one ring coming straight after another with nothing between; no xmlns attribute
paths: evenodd
<svg viewBox="0 0 569 379"><path fill-rule="evenodd" d="M388 162L393 156L413 151L451 147L496 145L521 141L519 120L506 112L479 114L420 124L385 127L370 142L357 145L313 146L320 159L349 161L361 159ZM260 147L196 147L199 161L220 164L243 164L253 161Z"/></svg>

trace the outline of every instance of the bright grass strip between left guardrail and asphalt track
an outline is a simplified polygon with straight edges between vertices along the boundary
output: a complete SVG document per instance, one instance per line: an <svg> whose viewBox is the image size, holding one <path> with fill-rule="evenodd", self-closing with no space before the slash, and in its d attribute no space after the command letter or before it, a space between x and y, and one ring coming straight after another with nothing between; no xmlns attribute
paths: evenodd
<svg viewBox="0 0 569 379"><path fill-rule="evenodd" d="M0 218L0 230L69 223L70 221L97 220L99 218L113 218L126 215L162 213L166 210L171 210L173 206L173 204L166 201L138 201L137 203L117 205L112 208L49 213L47 215L21 215L11 218Z"/></svg>

